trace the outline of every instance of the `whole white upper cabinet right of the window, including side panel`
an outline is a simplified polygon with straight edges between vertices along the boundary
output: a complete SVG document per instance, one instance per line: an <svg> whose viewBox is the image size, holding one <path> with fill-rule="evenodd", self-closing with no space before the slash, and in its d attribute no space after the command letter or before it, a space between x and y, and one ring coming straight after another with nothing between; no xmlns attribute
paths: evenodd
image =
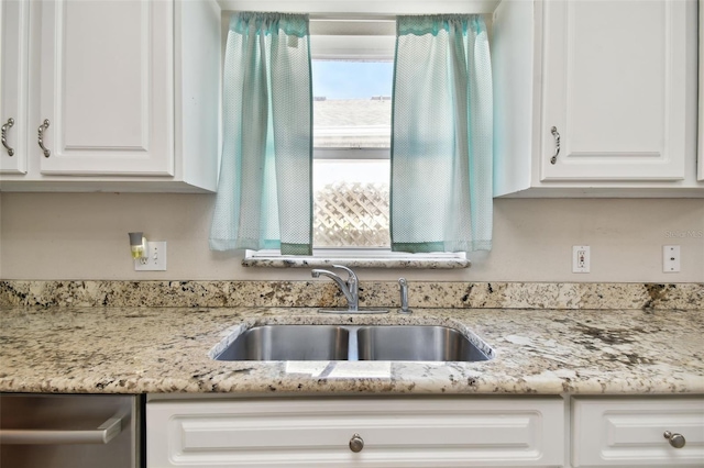
<svg viewBox="0 0 704 468"><path fill-rule="evenodd" d="M695 9L503 1L493 26L495 194L704 197Z"/></svg>

